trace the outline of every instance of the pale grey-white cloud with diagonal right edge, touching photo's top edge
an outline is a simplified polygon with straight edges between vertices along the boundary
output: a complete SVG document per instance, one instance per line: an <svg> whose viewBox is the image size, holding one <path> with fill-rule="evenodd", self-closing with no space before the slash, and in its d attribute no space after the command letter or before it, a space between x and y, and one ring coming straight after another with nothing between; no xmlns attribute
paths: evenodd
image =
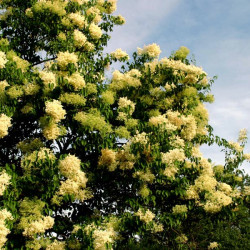
<svg viewBox="0 0 250 250"><path fill-rule="evenodd" d="M114 29L107 51L122 48L131 52L138 46L143 46L158 24L172 13L180 2L181 0L118 1L117 14L125 17L126 24Z"/></svg>

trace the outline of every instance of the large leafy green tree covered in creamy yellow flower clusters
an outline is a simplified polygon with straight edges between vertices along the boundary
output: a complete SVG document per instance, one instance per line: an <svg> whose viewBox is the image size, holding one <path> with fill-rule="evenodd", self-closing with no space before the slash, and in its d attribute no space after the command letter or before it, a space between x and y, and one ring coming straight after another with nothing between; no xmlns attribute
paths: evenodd
<svg viewBox="0 0 250 250"><path fill-rule="evenodd" d="M190 227L225 222L248 201L246 131L238 142L213 135L213 79L189 50L104 54L125 22L116 0L0 6L0 247L223 247ZM123 70L105 80L117 60ZM199 150L215 142L225 166Z"/></svg>

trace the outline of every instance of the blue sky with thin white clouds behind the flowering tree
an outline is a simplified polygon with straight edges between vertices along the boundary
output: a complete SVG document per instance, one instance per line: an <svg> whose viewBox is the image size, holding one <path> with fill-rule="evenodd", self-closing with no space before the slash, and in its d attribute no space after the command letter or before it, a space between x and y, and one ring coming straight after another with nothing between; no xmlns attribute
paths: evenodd
<svg viewBox="0 0 250 250"><path fill-rule="evenodd" d="M116 27L107 48L132 55L137 47L157 43L160 57L180 46L190 49L197 66L210 77L213 104L206 105L214 134L237 140L242 128L250 136L250 1L249 0L118 0L115 14L126 24ZM204 156L224 163L219 147L202 147ZM250 139L245 148L250 153ZM250 164L242 166L250 174Z"/></svg>

